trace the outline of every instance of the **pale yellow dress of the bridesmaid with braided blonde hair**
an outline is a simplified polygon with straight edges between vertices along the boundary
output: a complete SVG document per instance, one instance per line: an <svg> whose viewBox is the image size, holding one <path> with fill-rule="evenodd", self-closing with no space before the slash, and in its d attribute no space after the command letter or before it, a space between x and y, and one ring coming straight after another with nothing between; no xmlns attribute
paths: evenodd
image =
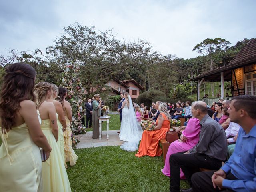
<svg viewBox="0 0 256 192"><path fill-rule="evenodd" d="M52 148L50 158L42 163L44 192L71 192L66 168L52 133L50 119L42 120L41 129Z"/></svg>

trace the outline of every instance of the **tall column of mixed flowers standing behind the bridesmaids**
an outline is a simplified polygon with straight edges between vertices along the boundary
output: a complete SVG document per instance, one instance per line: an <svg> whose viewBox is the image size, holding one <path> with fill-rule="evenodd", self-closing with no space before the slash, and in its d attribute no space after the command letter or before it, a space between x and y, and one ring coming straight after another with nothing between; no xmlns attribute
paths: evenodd
<svg viewBox="0 0 256 192"><path fill-rule="evenodd" d="M62 86L68 90L68 98L66 99L70 102L73 114L70 128L75 135L86 133L85 126L82 123L82 117L85 114L83 108L85 95L79 78L79 70L78 64L68 64L65 66L62 78Z"/></svg>

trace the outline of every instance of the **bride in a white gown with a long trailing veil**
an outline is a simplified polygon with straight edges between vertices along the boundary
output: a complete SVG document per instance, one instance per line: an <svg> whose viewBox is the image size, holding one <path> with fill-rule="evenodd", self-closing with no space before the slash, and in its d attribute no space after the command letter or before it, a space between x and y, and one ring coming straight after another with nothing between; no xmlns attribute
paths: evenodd
<svg viewBox="0 0 256 192"><path fill-rule="evenodd" d="M142 128L136 119L132 99L128 93L124 93L124 102L122 103L122 122L119 139L125 141L121 149L126 151L136 151L142 137Z"/></svg>

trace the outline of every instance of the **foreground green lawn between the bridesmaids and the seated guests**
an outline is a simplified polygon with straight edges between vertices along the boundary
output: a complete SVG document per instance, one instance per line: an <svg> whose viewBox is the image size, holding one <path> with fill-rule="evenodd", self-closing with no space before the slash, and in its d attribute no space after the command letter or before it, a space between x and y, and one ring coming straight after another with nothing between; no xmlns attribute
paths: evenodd
<svg viewBox="0 0 256 192"><path fill-rule="evenodd" d="M67 173L73 192L142 191L168 192L170 178L164 176L162 156L137 158L119 146L76 149L78 161ZM182 180L181 188L189 188Z"/></svg>

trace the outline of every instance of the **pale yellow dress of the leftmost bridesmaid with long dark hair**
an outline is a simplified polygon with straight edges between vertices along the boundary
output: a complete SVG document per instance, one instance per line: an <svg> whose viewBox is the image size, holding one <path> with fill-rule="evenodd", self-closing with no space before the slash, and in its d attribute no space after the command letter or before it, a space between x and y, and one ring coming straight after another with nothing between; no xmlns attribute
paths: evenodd
<svg viewBox="0 0 256 192"><path fill-rule="evenodd" d="M26 123L8 133L0 128L0 191L42 192L42 160Z"/></svg>

